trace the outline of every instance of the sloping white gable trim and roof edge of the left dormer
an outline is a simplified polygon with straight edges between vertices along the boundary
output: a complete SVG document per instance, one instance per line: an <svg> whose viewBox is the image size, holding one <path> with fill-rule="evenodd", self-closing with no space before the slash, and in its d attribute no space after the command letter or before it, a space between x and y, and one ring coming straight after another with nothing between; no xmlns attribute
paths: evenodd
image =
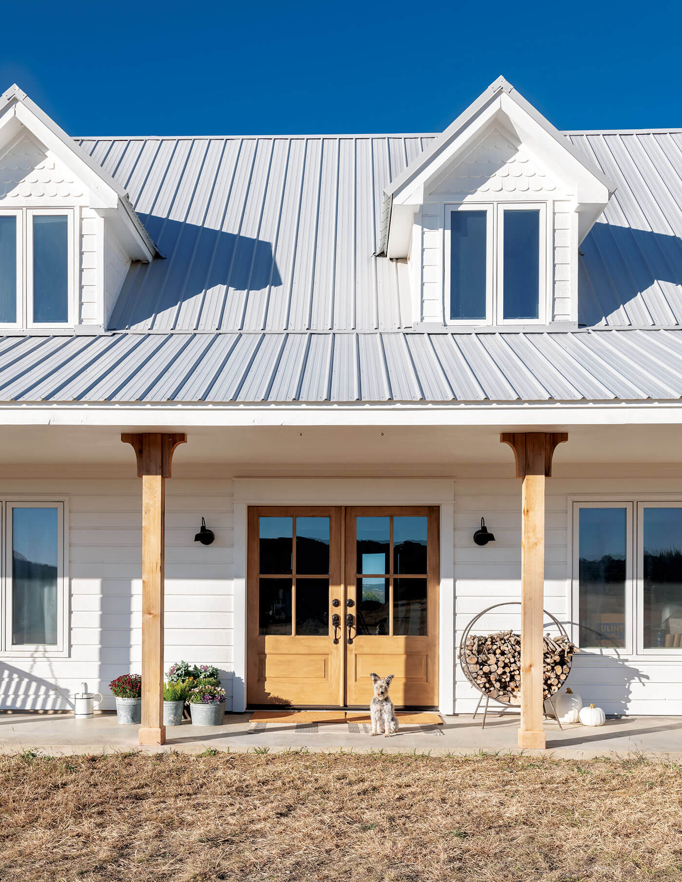
<svg viewBox="0 0 682 882"><path fill-rule="evenodd" d="M10 144L22 129L29 131L86 185L89 207L97 209L116 228L132 258L141 261L154 258L158 253L154 243L121 184L15 83L0 97L0 148Z"/></svg>

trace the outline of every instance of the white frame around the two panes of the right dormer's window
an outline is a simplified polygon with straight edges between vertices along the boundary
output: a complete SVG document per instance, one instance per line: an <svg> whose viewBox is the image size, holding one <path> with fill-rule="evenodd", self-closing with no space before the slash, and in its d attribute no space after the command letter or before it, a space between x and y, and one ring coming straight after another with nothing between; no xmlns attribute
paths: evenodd
<svg viewBox="0 0 682 882"><path fill-rule="evenodd" d="M445 324L451 327L481 327L484 325L546 325L551 317L550 295L552 291L551 273L553 262L550 249L553 242L551 222L553 204L516 199L499 202L445 202L443 203L443 291ZM538 267L538 318L503 318L504 316L504 237L502 214L506 211L539 211L540 243ZM454 211L483 211L487 214L486 224L486 293L485 318L450 318L451 278L450 278L450 214Z"/></svg>

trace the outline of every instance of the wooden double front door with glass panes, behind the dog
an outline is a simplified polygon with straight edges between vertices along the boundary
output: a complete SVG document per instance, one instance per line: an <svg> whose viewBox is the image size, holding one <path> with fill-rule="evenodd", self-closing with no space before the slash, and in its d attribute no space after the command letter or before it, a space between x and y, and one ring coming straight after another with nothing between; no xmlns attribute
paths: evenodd
<svg viewBox="0 0 682 882"><path fill-rule="evenodd" d="M250 706L438 705L438 508L252 507Z"/></svg>

